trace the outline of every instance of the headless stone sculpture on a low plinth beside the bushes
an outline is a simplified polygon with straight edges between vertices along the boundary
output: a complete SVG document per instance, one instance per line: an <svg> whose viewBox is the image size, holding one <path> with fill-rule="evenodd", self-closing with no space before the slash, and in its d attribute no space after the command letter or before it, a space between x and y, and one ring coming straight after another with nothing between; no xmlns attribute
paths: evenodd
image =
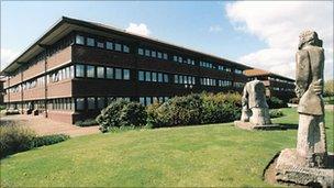
<svg viewBox="0 0 334 188"><path fill-rule="evenodd" d="M266 87L260 80L253 80L245 85L242 98L242 118L234 124L243 129L274 129L269 107L266 101Z"/></svg>

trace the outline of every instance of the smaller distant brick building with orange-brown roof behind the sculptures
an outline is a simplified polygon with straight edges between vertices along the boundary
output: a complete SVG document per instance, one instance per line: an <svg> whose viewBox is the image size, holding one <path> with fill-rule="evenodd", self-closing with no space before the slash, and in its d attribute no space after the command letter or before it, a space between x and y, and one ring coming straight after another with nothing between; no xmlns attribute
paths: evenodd
<svg viewBox="0 0 334 188"><path fill-rule="evenodd" d="M285 102L289 102L290 99L296 97L294 80L291 78L257 68L247 69L244 74L248 77L248 80L261 80L266 86L267 97L277 97Z"/></svg>

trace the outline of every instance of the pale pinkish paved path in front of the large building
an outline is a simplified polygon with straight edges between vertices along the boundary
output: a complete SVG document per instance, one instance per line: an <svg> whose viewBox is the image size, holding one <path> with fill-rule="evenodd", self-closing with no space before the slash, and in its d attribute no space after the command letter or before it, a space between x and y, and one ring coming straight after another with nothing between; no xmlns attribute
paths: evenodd
<svg viewBox="0 0 334 188"><path fill-rule="evenodd" d="M100 133L98 126L86 126L80 128L68 123L62 123L57 121L53 121L51 119L46 119L43 117L33 117L25 114L18 115L5 115L0 118L0 125L2 124L18 124L31 128L40 135L48 135L48 134L67 134L71 137L88 135L88 134L97 134Z"/></svg>

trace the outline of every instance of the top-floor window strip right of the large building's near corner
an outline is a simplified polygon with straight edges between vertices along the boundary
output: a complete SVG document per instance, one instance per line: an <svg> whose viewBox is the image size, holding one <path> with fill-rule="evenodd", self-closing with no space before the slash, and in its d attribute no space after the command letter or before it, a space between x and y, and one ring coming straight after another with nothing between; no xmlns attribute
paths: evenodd
<svg viewBox="0 0 334 188"><path fill-rule="evenodd" d="M101 41L96 40L93 37L85 37L81 35L76 35L76 44L80 45L87 45L90 47L99 47L99 48L105 48L110 51L116 51L116 52L123 52L123 53L130 53L130 47L125 44L114 43L111 41Z"/></svg>

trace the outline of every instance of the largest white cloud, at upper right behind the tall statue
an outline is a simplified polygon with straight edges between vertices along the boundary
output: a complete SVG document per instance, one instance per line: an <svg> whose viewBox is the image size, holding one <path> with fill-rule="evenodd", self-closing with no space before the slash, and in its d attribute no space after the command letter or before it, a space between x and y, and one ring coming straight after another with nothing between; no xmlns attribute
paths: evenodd
<svg viewBox="0 0 334 188"><path fill-rule="evenodd" d="M294 78L300 32L314 30L324 42L325 79L333 78L333 2L237 1L225 7L236 31L257 36L267 48L240 57L244 64Z"/></svg>

